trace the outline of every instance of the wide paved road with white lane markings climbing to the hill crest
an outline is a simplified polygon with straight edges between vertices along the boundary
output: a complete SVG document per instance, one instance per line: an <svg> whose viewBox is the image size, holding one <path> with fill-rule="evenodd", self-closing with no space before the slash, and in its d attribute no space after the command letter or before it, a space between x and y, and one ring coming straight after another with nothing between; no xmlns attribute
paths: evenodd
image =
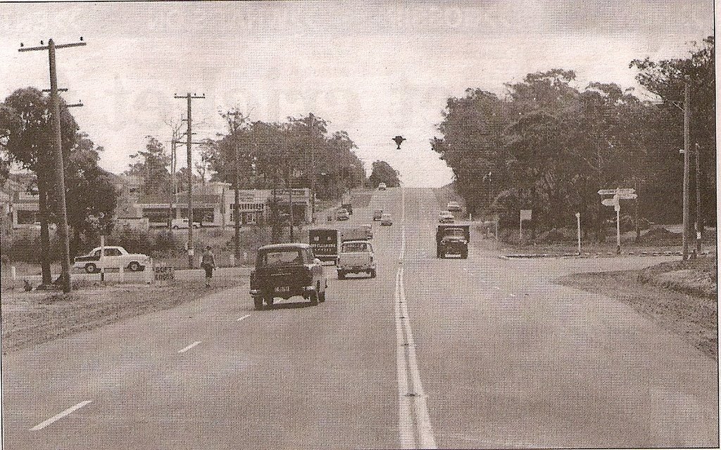
<svg viewBox="0 0 721 450"><path fill-rule="evenodd" d="M715 361L552 282L664 258L437 259L432 191L376 206L378 277L327 266L324 304L243 284L4 356L4 448L717 446Z"/></svg>

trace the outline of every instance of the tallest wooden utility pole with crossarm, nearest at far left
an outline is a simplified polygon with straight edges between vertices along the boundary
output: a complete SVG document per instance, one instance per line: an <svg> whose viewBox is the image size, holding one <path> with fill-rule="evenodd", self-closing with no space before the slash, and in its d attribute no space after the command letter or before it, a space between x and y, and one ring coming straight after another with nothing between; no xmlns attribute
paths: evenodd
<svg viewBox="0 0 721 450"><path fill-rule="evenodd" d="M82 41L83 38L81 37ZM58 226L61 248L62 248L62 271L61 280L63 282L63 292L70 292L70 236L68 230L68 210L65 202L65 164L63 163L63 143L60 128L60 97L58 96L58 72L56 67L55 50L58 48L80 47L86 45L86 42L73 42L71 44L55 45L55 41L48 40L48 45L44 46L40 42L41 47L23 48L22 43L18 51L29 52L33 50L48 50L48 60L50 62L50 119L53 130L50 132L50 138L53 141L53 160L55 163L55 191L58 203L58 217L60 224ZM70 105L68 105L70 106Z"/></svg>

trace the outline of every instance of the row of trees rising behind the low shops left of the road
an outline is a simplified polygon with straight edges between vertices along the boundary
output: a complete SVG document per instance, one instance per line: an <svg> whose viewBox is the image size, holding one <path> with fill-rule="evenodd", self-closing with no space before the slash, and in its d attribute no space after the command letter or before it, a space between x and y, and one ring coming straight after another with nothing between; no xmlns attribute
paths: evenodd
<svg viewBox="0 0 721 450"><path fill-rule="evenodd" d="M252 121L238 111L222 114L228 129L199 145L195 182L223 181L239 189L280 189L315 184L319 199L337 198L349 187L366 183L366 170L348 132L329 133L327 121L313 114L288 117L284 122ZM182 146L185 150L185 146ZM149 136L145 150L126 171L143 179L143 192L170 194L171 171L167 148ZM176 171L178 191L187 189L187 168Z"/></svg>

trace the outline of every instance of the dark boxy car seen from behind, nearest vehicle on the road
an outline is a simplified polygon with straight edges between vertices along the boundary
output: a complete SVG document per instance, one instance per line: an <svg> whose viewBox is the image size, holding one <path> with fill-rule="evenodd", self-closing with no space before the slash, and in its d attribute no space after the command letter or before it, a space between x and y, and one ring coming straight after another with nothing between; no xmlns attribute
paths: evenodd
<svg viewBox="0 0 721 450"><path fill-rule="evenodd" d="M325 301L328 279L311 247L302 243L273 244L258 248L255 270L250 272L250 295L256 310L275 297L301 296L311 305Z"/></svg>

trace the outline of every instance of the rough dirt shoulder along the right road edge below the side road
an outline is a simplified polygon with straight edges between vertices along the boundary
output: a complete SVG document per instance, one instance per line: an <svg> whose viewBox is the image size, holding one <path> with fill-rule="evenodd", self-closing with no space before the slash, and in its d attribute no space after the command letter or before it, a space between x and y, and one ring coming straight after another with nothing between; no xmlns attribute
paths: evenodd
<svg viewBox="0 0 721 450"><path fill-rule="evenodd" d="M715 258L673 261L642 270L572 274L558 282L618 298L718 361Z"/></svg>

